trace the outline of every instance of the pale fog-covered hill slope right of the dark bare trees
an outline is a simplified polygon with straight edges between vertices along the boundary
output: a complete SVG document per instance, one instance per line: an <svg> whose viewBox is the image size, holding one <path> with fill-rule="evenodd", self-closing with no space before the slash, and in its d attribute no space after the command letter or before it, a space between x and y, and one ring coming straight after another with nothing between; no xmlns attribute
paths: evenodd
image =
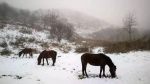
<svg viewBox="0 0 150 84"><path fill-rule="evenodd" d="M61 16L67 18L68 22L74 25L76 33L85 38L93 32L110 26L109 23L83 12L69 9L59 9L59 12Z"/></svg>

